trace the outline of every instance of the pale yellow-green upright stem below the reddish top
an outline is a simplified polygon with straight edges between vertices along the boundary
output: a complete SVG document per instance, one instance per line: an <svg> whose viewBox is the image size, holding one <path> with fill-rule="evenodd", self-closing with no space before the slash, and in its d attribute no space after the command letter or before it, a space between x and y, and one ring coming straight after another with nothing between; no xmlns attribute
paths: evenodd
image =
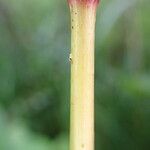
<svg viewBox="0 0 150 150"><path fill-rule="evenodd" d="M78 0L75 0L78 1ZM70 150L94 150L94 39L96 7L75 2L71 10Z"/></svg>

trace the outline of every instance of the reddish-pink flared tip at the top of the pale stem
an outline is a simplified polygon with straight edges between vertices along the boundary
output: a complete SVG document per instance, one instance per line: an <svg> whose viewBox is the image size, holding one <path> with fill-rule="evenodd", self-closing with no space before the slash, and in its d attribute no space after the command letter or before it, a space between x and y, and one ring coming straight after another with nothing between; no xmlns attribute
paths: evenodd
<svg viewBox="0 0 150 150"><path fill-rule="evenodd" d="M83 4L83 5L98 5L100 0L68 0L69 5Z"/></svg>

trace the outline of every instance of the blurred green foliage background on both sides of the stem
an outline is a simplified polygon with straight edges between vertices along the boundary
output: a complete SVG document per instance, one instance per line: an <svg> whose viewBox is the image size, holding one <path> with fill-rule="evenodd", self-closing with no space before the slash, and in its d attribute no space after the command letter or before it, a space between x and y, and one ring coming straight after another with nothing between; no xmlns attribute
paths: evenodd
<svg viewBox="0 0 150 150"><path fill-rule="evenodd" d="M0 150L68 150L66 0L0 0ZM150 148L150 1L102 0L96 150Z"/></svg>

